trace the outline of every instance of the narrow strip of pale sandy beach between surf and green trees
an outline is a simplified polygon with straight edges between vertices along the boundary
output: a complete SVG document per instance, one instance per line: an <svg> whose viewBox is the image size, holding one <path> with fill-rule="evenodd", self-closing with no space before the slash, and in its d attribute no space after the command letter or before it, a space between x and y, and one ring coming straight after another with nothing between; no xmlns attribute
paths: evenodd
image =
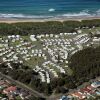
<svg viewBox="0 0 100 100"><path fill-rule="evenodd" d="M44 18L44 19L35 19L35 18L0 18L0 23L19 23L19 22L46 22L46 21L82 21L82 20L93 20L93 19L100 19L100 16L96 17L63 17L63 18Z"/></svg>

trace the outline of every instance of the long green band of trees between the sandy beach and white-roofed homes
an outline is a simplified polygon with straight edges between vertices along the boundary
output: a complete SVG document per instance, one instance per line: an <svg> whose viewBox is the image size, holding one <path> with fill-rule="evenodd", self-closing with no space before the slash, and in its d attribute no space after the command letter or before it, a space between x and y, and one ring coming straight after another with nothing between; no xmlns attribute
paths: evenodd
<svg viewBox="0 0 100 100"><path fill-rule="evenodd" d="M49 22L21 22L0 23L1 35L30 35L30 34L59 34L61 32L74 32L76 28L92 28L100 26L100 19L80 21L49 21Z"/></svg>

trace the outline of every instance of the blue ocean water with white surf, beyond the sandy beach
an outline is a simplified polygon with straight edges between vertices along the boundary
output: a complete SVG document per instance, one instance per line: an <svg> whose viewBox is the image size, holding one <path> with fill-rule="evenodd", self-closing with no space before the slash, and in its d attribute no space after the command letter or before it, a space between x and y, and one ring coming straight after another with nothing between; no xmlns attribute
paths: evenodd
<svg viewBox="0 0 100 100"><path fill-rule="evenodd" d="M100 16L100 0L0 0L2 18Z"/></svg>

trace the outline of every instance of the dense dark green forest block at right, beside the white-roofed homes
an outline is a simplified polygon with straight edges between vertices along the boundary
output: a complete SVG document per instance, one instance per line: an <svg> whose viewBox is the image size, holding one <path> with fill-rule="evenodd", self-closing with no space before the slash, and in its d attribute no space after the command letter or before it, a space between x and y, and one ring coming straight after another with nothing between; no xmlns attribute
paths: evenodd
<svg viewBox="0 0 100 100"><path fill-rule="evenodd" d="M100 47L75 53L69 60L69 67L73 70L71 77L76 86L100 76Z"/></svg>

